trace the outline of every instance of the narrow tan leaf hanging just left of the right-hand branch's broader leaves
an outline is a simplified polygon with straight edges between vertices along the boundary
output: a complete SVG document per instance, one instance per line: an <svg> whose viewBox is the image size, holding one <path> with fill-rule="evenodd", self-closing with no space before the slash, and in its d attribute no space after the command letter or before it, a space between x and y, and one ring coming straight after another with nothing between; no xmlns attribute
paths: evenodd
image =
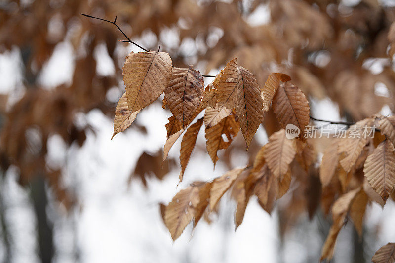
<svg viewBox="0 0 395 263"><path fill-rule="evenodd" d="M319 179L321 180L322 187L326 187L331 182L337 169L339 163L337 146L338 141L334 140L322 156L321 166L319 168Z"/></svg>

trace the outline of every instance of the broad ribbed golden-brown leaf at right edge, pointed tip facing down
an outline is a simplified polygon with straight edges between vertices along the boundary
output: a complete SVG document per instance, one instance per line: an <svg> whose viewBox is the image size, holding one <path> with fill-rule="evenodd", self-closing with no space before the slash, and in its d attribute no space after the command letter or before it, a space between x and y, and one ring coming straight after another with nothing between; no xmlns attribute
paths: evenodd
<svg viewBox="0 0 395 263"><path fill-rule="evenodd" d="M395 152L389 140L381 142L367 157L363 172L384 203L395 187Z"/></svg>

